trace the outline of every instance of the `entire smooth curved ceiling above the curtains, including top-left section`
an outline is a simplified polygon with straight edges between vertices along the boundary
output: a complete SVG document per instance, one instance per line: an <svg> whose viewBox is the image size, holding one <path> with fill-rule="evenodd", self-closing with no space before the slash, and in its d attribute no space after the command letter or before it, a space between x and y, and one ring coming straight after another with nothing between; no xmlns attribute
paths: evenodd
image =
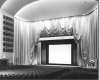
<svg viewBox="0 0 100 80"><path fill-rule="evenodd" d="M6 0L0 6L3 11L21 20L38 21L86 14L97 3L95 0Z"/></svg>

